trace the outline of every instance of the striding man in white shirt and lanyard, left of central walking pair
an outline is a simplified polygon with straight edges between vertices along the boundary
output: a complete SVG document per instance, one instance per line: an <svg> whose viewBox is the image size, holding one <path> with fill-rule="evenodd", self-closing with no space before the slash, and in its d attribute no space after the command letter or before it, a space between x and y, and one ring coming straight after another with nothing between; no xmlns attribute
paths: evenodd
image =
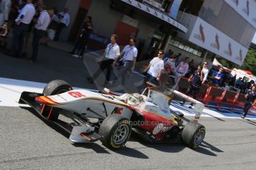
<svg viewBox="0 0 256 170"><path fill-rule="evenodd" d="M100 72L104 71L107 69L107 83L111 84L112 82L110 81L111 78L111 70L113 69L114 62L118 59L120 55L120 50L119 50L119 45L116 44L117 41L117 35L111 35L111 43L108 44L107 48L105 49L104 54L102 55L102 58L99 59L101 61L100 64L100 69L98 69L92 78L88 78L88 81L93 83L93 81L99 76Z"/></svg>

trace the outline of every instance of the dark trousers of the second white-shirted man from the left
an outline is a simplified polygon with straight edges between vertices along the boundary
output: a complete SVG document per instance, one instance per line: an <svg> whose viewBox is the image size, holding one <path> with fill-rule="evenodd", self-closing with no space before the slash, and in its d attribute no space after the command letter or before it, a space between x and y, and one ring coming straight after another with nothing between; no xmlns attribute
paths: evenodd
<svg viewBox="0 0 256 170"><path fill-rule="evenodd" d="M33 50L32 50L32 61L36 61L37 54L39 52L39 41L45 35L44 30L36 30L33 32Z"/></svg>

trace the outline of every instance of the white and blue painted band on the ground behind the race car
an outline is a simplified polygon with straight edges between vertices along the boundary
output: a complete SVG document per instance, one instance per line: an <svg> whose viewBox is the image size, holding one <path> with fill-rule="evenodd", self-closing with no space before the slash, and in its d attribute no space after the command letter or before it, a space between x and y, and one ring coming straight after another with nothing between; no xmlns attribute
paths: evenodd
<svg viewBox="0 0 256 170"><path fill-rule="evenodd" d="M22 92L42 92L45 85L33 81L0 78L0 106L24 106L18 103ZM181 106L178 102L172 102L170 108L174 112L183 112L186 116L194 116L193 109L189 109L186 105ZM209 118L240 118L241 113L241 110L230 110L229 108L221 110L205 108L201 116ZM246 118L256 120L256 114L249 114Z"/></svg>

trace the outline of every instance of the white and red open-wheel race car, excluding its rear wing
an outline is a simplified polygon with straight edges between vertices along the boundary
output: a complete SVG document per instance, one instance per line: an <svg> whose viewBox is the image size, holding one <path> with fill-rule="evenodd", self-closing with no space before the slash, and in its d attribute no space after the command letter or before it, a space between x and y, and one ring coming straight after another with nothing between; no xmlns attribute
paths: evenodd
<svg viewBox="0 0 256 170"><path fill-rule="evenodd" d="M183 114L171 112L170 92L147 87L142 94L116 95L108 89L73 89L65 81L54 80L41 94L22 92L19 103L27 103L42 118L64 128L73 143L101 140L108 148L119 149L131 132L136 132L151 143L179 138L186 146L197 148L206 128ZM59 115L73 120L70 129L60 125Z"/></svg>

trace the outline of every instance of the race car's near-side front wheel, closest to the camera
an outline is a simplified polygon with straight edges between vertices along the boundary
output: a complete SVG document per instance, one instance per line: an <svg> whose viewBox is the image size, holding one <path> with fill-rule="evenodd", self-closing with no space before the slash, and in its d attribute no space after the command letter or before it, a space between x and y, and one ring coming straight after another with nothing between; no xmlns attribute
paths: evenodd
<svg viewBox="0 0 256 170"><path fill-rule="evenodd" d="M109 115L99 127L99 135L103 145L111 149L119 149L125 145L131 135L131 125L122 115Z"/></svg>

